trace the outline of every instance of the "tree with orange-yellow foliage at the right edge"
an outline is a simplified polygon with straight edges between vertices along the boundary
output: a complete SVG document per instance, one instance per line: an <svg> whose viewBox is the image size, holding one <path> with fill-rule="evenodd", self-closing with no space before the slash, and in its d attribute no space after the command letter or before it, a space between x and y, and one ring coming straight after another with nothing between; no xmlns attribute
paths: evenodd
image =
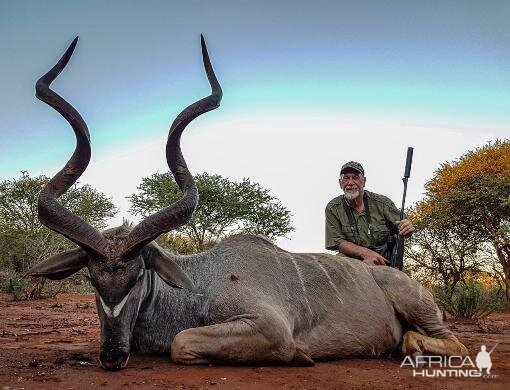
<svg viewBox="0 0 510 390"><path fill-rule="evenodd" d="M434 229L489 244L501 266L510 304L510 140L489 142L444 163L426 185L416 216Z"/></svg>

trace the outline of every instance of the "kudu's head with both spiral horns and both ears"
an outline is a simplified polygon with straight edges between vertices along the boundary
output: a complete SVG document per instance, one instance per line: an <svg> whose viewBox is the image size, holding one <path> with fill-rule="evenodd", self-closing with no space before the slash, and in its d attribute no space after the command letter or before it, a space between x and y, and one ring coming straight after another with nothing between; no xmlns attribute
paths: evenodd
<svg viewBox="0 0 510 390"><path fill-rule="evenodd" d="M118 227L96 230L57 202L71 187L90 161L90 136L80 114L50 84L71 58L76 38L58 63L36 83L36 96L57 110L76 135L76 149L64 166L42 189L38 200L41 223L66 236L79 248L48 258L26 272L25 276L66 278L87 267L96 290L101 322L101 365L109 370L123 368L129 358L131 332L136 322L147 283L147 269L156 272L175 288L194 290L190 278L156 244L160 234L187 223L197 205L198 191L181 153L180 138L185 127L197 116L220 105L222 91L214 75L203 36L202 57L211 95L185 108L174 120L168 134L166 158L183 196L177 202L148 216L133 229Z"/></svg>

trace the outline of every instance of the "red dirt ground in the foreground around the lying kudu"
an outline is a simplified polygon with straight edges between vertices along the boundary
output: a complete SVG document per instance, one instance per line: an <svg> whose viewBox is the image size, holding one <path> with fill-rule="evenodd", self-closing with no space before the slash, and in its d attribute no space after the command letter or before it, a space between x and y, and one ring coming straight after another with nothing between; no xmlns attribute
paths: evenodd
<svg viewBox="0 0 510 390"><path fill-rule="evenodd" d="M10 389L509 389L510 312L493 313L487 327L450 322L475 359L494 350L497 378L413 378L401 357L345 359L314 367L181 366L169 356L133 354L126 369L99 367L99 320L92 295L15 302L0 294L0 386ZM484 328L484 329L482 329Z"/></svg>

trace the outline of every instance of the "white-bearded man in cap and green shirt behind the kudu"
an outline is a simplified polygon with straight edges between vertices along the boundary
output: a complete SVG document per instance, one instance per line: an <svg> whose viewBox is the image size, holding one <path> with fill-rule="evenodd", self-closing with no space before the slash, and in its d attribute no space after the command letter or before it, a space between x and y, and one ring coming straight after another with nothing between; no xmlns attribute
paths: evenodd
<svg viewBox="0 0 510 390"><path fill-rule="evenodd" d="M386 196L365 190L365 171L349 161L340 169L344 194L326 206L326 249L371 265L389 264L393 236L409 237L414 226Z"/></svg>

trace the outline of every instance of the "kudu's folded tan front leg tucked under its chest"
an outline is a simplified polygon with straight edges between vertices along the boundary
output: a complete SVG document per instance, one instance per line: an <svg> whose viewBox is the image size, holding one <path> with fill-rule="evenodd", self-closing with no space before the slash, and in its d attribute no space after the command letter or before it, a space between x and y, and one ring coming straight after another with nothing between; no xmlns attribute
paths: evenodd
<svg viewBox="0 0 510 390"><path fill-rule="evenodd" d="M300 366L314 362L296 348L290 331L274 323L239 318L178 333L171 346L172 360L181 364L272 361Z"/></svg>

